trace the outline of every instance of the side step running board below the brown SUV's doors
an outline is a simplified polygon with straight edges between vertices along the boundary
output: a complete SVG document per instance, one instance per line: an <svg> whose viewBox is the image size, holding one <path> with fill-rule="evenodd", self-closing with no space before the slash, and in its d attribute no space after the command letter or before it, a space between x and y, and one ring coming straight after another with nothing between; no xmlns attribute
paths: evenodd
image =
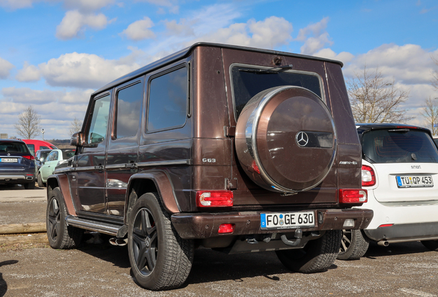
<svg viewBox="0 0 438 297"><path fill-rule="evenodd" d="M72 225L74 227L101 232L104 234L109 234L116 236L118 238L123 238L127 234L127 225L115 225L112 223L102 223L87 219L81 219L79 217L67 216L65 218L67 225Z"/></svg>

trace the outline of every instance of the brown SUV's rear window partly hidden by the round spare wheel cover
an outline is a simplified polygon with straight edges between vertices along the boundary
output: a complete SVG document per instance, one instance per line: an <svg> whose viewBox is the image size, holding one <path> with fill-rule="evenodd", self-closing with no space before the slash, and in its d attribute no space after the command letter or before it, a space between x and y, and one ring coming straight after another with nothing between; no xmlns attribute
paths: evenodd
<svg viewBox="0 0 438 297"><path fill-rule="evenodd" d="M253 96L271 87L304 87L322 98L320 76L311 72L272 71L268 67L234 66L231 68L236 118Z"/></svg>

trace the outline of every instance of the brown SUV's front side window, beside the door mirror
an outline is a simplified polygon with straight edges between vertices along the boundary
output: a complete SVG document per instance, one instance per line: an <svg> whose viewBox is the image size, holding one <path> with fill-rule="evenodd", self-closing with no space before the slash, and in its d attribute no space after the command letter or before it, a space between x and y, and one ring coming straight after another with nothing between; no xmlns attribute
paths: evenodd
<svg viewBox="0 0 438 297"><path fill-rule="evenodd" d="M111 96L108 94L94 101L93 116L87 134L87 144L103 142L107 135Z"/></svg>

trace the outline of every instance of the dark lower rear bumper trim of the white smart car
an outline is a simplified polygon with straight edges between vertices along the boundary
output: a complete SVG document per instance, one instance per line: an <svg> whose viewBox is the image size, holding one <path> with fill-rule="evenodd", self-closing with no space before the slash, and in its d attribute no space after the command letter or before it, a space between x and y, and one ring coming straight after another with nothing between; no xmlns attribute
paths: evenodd
<svg viewBox="0 0 438 297"><path fill-rule="evenodd" d="M388 243L438 239L438 222L394 224L364 232L373 241Z"/></svg>

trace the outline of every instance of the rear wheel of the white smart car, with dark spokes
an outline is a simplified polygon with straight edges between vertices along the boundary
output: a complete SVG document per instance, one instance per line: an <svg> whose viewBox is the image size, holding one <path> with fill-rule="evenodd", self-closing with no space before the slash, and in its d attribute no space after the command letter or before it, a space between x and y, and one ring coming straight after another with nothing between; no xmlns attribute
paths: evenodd
<svg viewBox="0 0 438 297"><path fill-rule="evenodd" d="M342 242L337 259L359 260L370 245L370 240L362 230L342 230Z"/></svg>

